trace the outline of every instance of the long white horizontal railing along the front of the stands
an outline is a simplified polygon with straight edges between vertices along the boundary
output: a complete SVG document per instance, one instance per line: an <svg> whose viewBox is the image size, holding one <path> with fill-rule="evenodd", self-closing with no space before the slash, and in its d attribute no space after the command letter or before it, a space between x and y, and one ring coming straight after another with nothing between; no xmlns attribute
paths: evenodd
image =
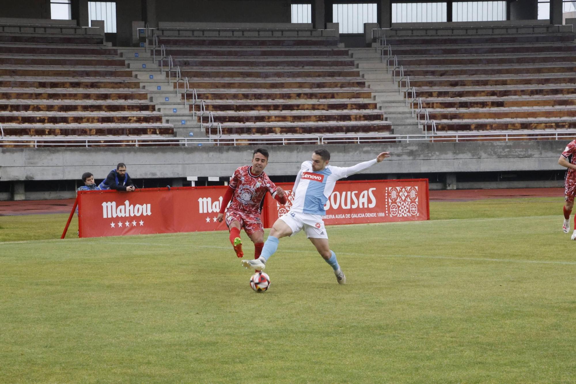
<svg viewBox="0 0 576 384"><path fill-rule="evenodd" d="M432 121L431 121L432 122ZM418 135L398 135L398 134L308 134L308 135L244 135L244 136L221 136L218 138L221 145L245 145L245 144L334 144L338 142L410 142L410 141L449 141L463 142L468 140L491 140L491 141L510 141L510 140L574 140L576 130L570 131L523 131L523 132L442 132L435 130L435 122L431 123L434 134ZM106 137L106 138L2 138L1 145L10 146L69 146L69 147L88 147L88 146L139 146L146 145L191 145L210 143L211 138L187 138L187 137Z"/></svg>

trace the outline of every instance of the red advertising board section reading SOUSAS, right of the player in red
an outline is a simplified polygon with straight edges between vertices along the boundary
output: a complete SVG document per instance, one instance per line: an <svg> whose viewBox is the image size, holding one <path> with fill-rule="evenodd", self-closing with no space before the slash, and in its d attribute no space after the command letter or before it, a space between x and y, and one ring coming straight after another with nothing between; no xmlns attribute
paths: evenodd
<svg viewBox="0 0 576 384"><path fill-rule="evenodd" d="M290 193L290 201L285 206L266 196L264 225L267 228L290 210L293 195L291 190L286 191ZM324 208L326 225L429 220L428 179L336 182Z"/></svg>

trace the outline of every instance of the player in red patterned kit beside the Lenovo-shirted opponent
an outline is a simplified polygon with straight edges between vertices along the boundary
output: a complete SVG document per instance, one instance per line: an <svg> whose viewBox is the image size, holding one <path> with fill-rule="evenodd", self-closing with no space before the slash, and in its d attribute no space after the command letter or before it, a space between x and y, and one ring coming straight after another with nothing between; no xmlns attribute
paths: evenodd
<svg viewBox="0 0 576 384"><path fill-rule="evenodd" d="M263 148L256 149L252 153L252 165L244 165L244 167L234 171L228 184L228 190L222 199L217 220L222 223L226 210L226 225L230 231L230 243L232 243L237 257L244 256L242 240L240 239L241 228L244 228L254 243L254 258L260 257L264 246L264 227L260 220L264 195L270 192L280 204L287 202L287 196L282 188L276 187L268 175L264 173L266 165L268 165L268 151ZM232 202L226 209L230 199Z"/></svg>

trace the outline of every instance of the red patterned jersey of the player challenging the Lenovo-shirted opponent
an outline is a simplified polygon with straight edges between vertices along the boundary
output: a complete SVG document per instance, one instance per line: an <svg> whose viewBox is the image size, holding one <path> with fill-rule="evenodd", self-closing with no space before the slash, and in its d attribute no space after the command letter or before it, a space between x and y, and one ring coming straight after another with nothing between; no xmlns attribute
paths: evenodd
<svg viewBox="0 0 576 384"><path fill-rule="evenodd" d="M252 165L244 165L234 171L229 186L234 189L228 209L241 210L247 213L259 214L264 205L264 195L270 192L272 197L276 194L276 186L265 172L259 176L253 175Z"/></svg>

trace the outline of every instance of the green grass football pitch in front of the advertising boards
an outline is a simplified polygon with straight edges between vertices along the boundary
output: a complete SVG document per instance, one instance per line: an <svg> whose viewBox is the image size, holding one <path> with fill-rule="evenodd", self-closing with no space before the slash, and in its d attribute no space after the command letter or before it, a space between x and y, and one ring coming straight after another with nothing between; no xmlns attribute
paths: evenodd
<svg viewBox="0 0 576 384"><path fill-rule="evenodd" d="M0 217L0 382L576 382L561 207L328 227L344 286L285 238L265 293L225 232L59 240L67 215Z"/></svg>

